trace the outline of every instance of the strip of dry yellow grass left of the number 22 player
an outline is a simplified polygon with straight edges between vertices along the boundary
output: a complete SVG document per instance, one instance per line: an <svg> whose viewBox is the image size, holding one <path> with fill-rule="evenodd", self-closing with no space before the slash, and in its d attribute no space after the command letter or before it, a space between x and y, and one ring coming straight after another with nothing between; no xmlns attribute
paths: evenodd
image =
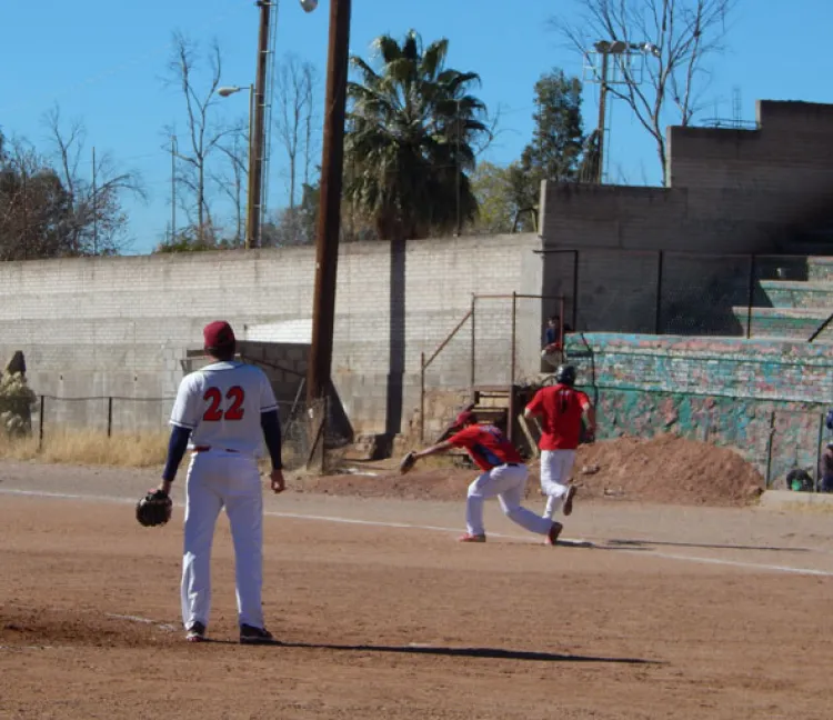
<svg viewBox="0 0 833 720"><path fill-rule="evenodd" d="M43 440L38 450L38 438L9 439L0 437L0 458L6 460L38 460L83 466L116 466L150 468L164 464L168 433L114 433L89 430L60 430Z"/></svg>

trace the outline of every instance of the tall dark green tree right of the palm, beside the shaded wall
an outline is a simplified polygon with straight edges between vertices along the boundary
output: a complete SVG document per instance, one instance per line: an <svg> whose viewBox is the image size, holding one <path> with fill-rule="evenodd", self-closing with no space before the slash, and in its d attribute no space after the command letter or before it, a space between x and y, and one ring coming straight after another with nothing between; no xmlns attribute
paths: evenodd
<svg viewBox="0 0 833 720"><path fill-rule="evenodd" d="M513 201L519 210L539 204L542 180L571 181L579 178L584 131L581 116L582 84L554 69L535 83L535 122L530 142L519 162L510 168ZM531 229L529 212L521 227Z"/></svg>

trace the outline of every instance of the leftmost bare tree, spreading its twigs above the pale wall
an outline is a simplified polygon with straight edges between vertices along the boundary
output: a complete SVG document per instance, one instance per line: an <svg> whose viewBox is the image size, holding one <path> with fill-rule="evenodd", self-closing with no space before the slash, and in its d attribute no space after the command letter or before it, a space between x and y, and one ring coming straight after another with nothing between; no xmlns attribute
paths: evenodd
<svg viewBox="0 0 833 720"><path fill-rule="evenodd" d="M69 248L74 254L116 252L128 221L123 194L147 199L140 174L120 170L108 152L97 154L93 150L89 164L82 160L87 129L80 120L64 127L58 106L43 117L43 124L53 148L56 172L69 197ZM89 171L82 174L79 166L89 167Z"/></svg>

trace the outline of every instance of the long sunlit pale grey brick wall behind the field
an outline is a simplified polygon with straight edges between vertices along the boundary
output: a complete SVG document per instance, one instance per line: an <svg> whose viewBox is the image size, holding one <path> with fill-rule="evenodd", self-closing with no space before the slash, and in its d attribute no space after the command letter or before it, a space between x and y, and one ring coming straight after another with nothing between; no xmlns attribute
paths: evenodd
<svg viewBox="0 0 833 720"><path fill-rule="evenodd" d="M434 351L472 293L540 292L535 249L531 234L342 246L333 374L357 431L401 422L389 418L392 388L401 416L415 407L420 352ZM38 393L148 399L132 412L158 426L170 403L149 399L173 396L205 322L225 318L250 342L309 342L313 274L312 248L0 263L0 357L23 350ZM476 323L481 377L505 373L508 307ZM518 328L535 343L538 310ZM470 338L438 357L431 386L468 387ZM87 414L68 406L64 417Z"/></svg>

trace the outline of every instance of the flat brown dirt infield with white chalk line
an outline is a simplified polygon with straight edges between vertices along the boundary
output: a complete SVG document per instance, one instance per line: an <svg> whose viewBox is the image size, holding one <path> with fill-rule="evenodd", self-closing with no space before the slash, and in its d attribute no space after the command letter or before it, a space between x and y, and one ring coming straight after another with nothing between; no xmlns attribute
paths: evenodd
<svg viewBox="0 0 833 720"><path fill-rule="evenodd" d="M189 646L152 476L0 463L1 718L830 717L825 517L598 500L546 548L492 503L461 546L461 502L270 497L284 644L233 642L223 519Z"/></svg>

